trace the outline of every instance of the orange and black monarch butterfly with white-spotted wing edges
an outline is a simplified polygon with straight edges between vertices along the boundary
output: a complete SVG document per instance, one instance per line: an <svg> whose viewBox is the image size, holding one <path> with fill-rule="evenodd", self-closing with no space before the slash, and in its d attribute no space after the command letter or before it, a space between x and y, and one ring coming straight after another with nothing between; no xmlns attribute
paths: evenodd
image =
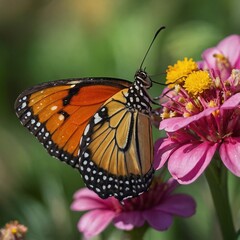
<svg viewBox="0 0 240 240"><path fill-rule="evenodd" d="M89 189L121 201L146 191L154 173L151 86L142 67L133 83L57 80L25 90L15 110L50 155L80 171Z"/></svg>

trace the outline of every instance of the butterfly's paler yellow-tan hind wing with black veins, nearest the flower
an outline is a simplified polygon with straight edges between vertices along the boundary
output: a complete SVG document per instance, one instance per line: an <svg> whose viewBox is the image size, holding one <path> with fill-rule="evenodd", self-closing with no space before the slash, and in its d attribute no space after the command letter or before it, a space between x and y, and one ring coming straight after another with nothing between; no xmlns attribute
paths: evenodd
<svg viewBox="0 0 240 240"><path fill-rule="evenodd" d="M150 117L127 107L127 91L93 115L81 140L80 172L101 198L135 197L148 189L154 172Z"/></svg>

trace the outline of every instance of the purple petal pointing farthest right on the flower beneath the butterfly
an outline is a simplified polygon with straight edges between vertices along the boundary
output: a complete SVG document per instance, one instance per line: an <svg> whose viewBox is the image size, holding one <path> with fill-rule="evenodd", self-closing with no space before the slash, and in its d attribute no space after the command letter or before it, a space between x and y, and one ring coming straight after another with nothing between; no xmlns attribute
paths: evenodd
<svg viewBox="0 0 240 240"><path fill-rule="evenodd" d="M174 194L165 198L156 209L176 216L190 217L196 212L196 202L186 194Z"/></svg>

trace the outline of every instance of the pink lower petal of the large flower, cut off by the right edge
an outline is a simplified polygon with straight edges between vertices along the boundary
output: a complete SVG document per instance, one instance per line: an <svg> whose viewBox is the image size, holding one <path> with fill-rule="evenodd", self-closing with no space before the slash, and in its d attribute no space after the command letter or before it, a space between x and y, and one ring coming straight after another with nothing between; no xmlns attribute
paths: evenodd
<svg viewBox="0 0 240 240"><path fill-rule="evenodd" d="M240 177L240 137L226 138L219 148L225 166Z"/></svg>

